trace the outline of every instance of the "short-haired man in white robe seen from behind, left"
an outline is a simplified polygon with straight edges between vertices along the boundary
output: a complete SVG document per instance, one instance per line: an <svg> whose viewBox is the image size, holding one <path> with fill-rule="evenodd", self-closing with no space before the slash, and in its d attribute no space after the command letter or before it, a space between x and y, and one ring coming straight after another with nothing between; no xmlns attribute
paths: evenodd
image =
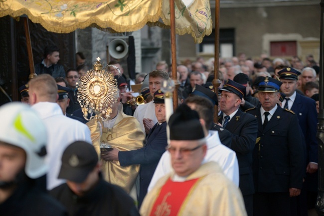
<svg viewBox="0 0 324 216"><path fill-rule="evenodd" d="M90 130L84 123L63 115L56 103L57 84L53 77L41 74L29 81L29 104L38 112L48 132L46 163L49 166L47 189L64 182L58 179L60 158L64 149L72 142L80 140L91 143Z"/></svg>

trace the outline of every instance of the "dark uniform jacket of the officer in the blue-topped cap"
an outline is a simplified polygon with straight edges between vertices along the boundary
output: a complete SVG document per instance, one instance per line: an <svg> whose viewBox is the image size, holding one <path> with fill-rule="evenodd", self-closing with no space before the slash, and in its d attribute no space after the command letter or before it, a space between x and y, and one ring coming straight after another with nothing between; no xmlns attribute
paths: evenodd
<svg viewBox="0 0 324 216"><path fill-rule="evenodd" d="M297 115L277 107L263 129L261 106L248 110L258 119L258 139L253 151L254 186L257 192L289 192L302 188L304 148Z"/></svg>

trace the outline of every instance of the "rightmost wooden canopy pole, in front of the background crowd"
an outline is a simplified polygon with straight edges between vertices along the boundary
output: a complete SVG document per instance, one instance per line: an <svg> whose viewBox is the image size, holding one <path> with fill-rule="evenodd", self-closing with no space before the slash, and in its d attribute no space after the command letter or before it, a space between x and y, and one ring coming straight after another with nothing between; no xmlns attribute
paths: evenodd
<svg viewBox="0 0 324 216"><path fill-rule="evenodd" d="M218 79L218 59L219 59L219 0L215 0L215 62L214 62L214 79L212 81L214 93L218 95L220 80ZM214 122L218 123L218 106L214 106Z"/></svg>

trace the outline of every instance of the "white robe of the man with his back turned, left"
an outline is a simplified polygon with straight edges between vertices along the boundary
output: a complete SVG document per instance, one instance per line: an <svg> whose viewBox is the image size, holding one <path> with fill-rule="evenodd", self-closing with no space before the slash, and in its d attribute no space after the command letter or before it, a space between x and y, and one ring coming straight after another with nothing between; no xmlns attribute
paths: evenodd
<svg viewBox="0 0 324 216"><path fill-rule="evenodd" d="M92 143L90 130L86 124L64 116L62 109L56 103L39 102L31 108L38 112L47 129L48 142L45 163L49 168L47 190L51 190L65 182L65 180L57 178L65 148L74 141Z"/></svg>

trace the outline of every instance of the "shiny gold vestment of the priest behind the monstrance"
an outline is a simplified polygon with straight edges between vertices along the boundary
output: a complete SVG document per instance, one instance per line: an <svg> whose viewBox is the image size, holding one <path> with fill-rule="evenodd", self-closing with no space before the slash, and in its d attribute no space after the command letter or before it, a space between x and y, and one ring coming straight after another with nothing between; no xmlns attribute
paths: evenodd
<svg viewBox="0 0 324 216"><path fill-rule="evenodd" d="M92 119L87 125L90 128L91 139L100 158L100 143L107 143L120 151L131 151L143 148L145 135L140 123L136 118L119 111L115 124L112 128L104 128L104 124L99 119L98 122ZM100 136L100 126L102 135ZM122 167L119 161L106 161L101 159L102 173L104 179L112 184L122 187L130 193L140 171L140 165Z"/></svg>

